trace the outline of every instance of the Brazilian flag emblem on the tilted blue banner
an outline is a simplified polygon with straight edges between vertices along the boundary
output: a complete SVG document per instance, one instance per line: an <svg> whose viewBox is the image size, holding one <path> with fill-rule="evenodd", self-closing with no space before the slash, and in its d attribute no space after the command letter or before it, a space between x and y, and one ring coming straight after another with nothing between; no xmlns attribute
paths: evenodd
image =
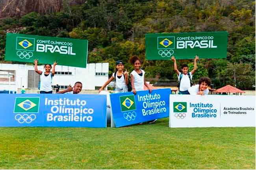
<svg viewBox="0 0 256 170"><path fill-rule="evenodd" d="M122 112L136 110L134 95L120 96L119 98Z"/></svg>

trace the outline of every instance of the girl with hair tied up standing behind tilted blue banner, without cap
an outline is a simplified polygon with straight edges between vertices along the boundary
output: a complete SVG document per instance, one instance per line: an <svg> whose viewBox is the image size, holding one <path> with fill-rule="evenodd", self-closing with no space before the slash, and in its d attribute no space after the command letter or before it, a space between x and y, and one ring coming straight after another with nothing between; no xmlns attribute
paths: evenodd
<svg viewBox="0 0 256 170"><path fill-rule="evenodd" d="M145 81L145 71L141 70L141 60L137 56L132 56L130 59L131 63L134 65L134 70L131 72L131 83L132 83L132 92L136 94L137 91L144 89L144 85L148 88L151 93L152 89L148 86ZM148 121L149 124L154 123L157 119ZM139 123L141 125L143 123Z"/></svg>

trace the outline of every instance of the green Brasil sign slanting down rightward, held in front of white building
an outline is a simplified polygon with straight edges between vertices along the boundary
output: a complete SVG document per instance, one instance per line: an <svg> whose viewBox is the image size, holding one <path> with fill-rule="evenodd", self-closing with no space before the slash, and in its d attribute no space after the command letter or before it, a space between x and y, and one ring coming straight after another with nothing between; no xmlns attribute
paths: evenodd
<svg viewBox="0 0 256 170"><path fill-rule="evenodd" d="M6 35L7 61L33 63L33 60L38 59L39 63L52 64L57 61L59 65L86 68L87 54L87 40L12 33Z"/></svg>

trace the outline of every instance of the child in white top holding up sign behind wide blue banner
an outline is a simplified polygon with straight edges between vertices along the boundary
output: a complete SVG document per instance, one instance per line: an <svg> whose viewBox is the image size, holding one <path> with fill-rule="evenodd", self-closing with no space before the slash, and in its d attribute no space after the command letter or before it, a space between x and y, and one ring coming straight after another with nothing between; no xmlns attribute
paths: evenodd
<svg viewBox="0 0 256 170"><path fill-rule="evenodd" d="M40 94L52 94L52 77L55 74L55 66L58 63L54 61L53 68L52 68L52 65L45 64L44 73L37 69L37 63L38 63L37 59L34 60L34 63L35 63L35 72L40 74L40 81L39 81L39 87L38 87ZM51 69L52 69L52 72L50 72Z"/></svg>

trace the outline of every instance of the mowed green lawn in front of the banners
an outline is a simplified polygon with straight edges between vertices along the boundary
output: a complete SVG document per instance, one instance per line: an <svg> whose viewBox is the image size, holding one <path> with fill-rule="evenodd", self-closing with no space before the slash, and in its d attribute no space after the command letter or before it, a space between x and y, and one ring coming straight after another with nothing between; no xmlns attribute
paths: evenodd
<svg viewBox="0 0 256 170"><path fill-rule="evenodd" d="M0 169L255 169L255 128L0 128Z"/></svg>

